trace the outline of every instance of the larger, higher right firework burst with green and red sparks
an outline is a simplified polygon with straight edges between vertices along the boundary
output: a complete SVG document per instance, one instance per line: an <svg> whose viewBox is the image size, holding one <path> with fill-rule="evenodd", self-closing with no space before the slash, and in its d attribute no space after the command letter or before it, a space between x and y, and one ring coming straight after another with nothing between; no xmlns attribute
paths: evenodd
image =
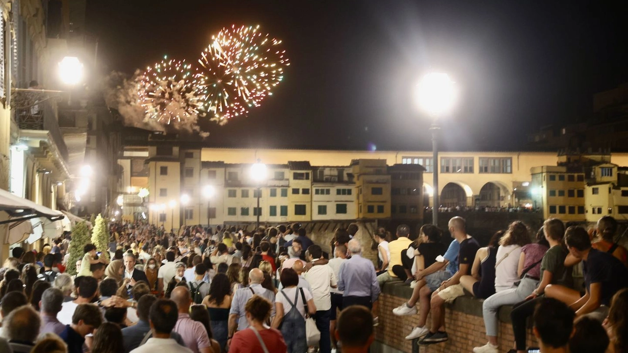
<svg viewBox="0 0 628 353"><path fill-rule="evenodd" d="M283 80L290 65L281 41L269 38L259 26L223 28L198 60L197 95L212 121L226 124L258 107Z"/></svg>

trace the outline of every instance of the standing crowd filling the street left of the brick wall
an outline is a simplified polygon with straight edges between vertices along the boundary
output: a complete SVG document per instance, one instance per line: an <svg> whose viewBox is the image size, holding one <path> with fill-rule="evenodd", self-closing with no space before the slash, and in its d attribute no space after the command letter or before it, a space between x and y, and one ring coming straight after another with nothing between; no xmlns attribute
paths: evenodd
<svg viewBox="0 0 628 353"><path fill-rule="evenodd" d="M365 352L379 285L357 229L335 231L331 258L300 224L113 222L107 249L85 244L75 263L72 234L15 247L0 270L0 351Z"/></svg>

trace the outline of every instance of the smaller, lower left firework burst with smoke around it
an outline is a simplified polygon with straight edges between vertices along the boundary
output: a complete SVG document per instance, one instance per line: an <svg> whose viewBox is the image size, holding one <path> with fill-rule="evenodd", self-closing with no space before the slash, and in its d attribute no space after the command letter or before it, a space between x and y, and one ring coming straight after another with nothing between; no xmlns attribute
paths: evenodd
<svg viewBox="0 0 628 353"><path fill-rule="evenodd" d="M146 119L167 124L196 121L202 106L196 84L192 65L185 60L164 57L154 67L146 68L138 80L138 102Z"/></svg>

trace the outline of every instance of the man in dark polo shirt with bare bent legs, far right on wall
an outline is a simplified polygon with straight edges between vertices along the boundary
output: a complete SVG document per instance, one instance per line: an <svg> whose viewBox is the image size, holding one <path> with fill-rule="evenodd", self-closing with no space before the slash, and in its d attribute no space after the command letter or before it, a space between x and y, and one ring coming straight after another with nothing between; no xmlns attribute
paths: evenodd
<svg viewBox="0 0 628 353"><path fill-rule="evenodd" d="M628 287L628 269L612 254L592 249L591 240L582 227L569 227L565 231L565 244L569 253L581 259L585 280L585 295L565 286L549 285L546 296L556 298L576 311L576 316L587 315L604 320L609 312L610 300L622 288Z"/></svg>

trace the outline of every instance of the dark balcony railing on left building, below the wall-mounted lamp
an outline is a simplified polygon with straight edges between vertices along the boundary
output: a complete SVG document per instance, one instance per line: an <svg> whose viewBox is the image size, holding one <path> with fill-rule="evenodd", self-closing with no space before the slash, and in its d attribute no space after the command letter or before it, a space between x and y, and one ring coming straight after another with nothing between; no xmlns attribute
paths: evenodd
<svg viewBox="0 0 628 353"><path fill-rule="evenodd" d="M63 134L57 119L56 91L14 89L14 119L19 129L48 131L48 135L57 146L59 154L68 160L68 148L63 141Z"/></svg>

